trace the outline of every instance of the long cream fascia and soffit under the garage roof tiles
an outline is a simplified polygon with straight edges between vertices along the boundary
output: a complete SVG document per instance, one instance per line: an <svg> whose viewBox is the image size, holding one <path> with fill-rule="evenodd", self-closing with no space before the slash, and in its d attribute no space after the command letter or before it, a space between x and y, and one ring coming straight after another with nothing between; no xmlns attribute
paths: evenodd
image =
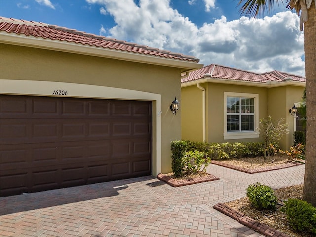
<svg viewBox="0 0 316 237"><path fill-rule="evenodd" d="M124 52L124 51L115 50L115 49L111 50L111 49L106 49L102 47L69 43L69 42L60 41L60 40L43 39L40 37L37 38L33 36L26 36L24 34L17 35L15 33L1 32L0 42L6 43L6 44L18 45L18 46L27 46L27 47L34 47L34 48L40 48L40 49L68 52L68 53L78 53L78 54L84 54L84 55L89 55L89 56L113 58L113 59L132 61L132 62L138 62L138 63L147 63L147 64L154 64L154 65L160 65L160 66L167 66L167 67L176 67L176 68L185 69L184 71L199 69L203 67L203 64L199 64L195 62L161 58L157 56L147 56L147 55L142 55L142 54L137 54L137 53Z"/></svg>

